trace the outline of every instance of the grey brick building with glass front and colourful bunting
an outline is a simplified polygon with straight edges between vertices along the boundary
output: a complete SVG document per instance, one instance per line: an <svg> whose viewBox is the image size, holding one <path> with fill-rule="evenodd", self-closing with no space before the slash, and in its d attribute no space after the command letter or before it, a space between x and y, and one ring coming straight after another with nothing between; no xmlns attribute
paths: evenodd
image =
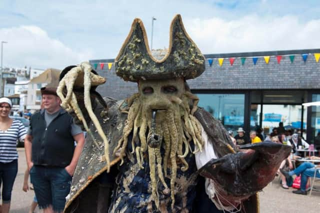
<svg viewBox="0 0 320 213"><path fill-rule="evenodd" d="M226 129L248 133L257 127L272 131L279 122L299 131L308 143L320 131L320 49L205 54L205 71L187 80L192 93ZM97 91L123 99L137 92L137 84L117 77L114 59L90 60L107 78ZM302 131L301 131L302 129Z"/></svg>

